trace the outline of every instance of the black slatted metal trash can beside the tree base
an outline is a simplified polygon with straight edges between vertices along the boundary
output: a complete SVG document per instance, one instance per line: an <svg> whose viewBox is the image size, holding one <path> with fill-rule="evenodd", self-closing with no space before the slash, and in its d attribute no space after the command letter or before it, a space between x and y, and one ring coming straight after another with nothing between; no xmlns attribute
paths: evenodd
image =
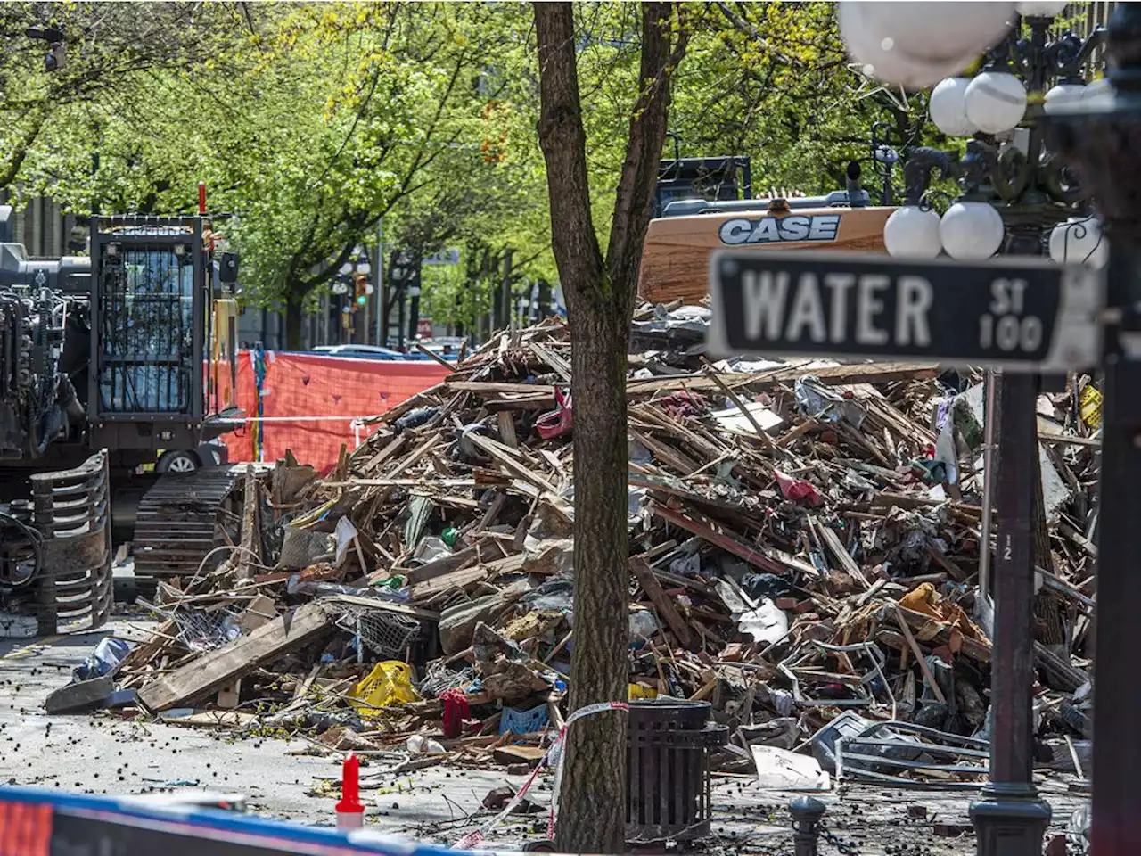
<svg viewBox="0 0 1141 856"><path fill-rule="evenodd" d="M729 729L709 721L707 702L630 703L626 733L626 840L693 841L710 832L707 750Z"/></svg>

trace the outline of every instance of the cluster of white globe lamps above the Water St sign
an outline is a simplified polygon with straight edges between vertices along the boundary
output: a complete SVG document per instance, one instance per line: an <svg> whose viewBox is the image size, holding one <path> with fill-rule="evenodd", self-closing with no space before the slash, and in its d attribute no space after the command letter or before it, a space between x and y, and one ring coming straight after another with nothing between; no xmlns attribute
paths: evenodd
<svg viewBox="0 0 1141 856"><path fill-rule="evenodd" d="M1071 34L1049 40L1051 18L1065 7L1065 2L841 3L841 32L865 72L905 87L934 84L931 121L948 137L972 137L960 162L936 150L916 153L905 204L884 226L890 255L932 259L945 252L980 261L1010 251L1012 231L1027 239L1017 251L1027 252L1036 229L1036 251L1055 261L1106 264L1108 247L1100 224L1082 211L1081 189L1045 151L1034 128L1042 112L1112 98L1108 81L1086 83L1079 76L1101 43L1100 32L1085 43ZM1028 38L1020 33L1023 19L1030 25ZM932 33L939 38L932 39ZM984 54L979 73L963 75L979 54ZM1019 139L1014 131L1023 123L1030 126L1030 135ZM963 189L942 217L925 197L933 169L957 179Z"/></svg>

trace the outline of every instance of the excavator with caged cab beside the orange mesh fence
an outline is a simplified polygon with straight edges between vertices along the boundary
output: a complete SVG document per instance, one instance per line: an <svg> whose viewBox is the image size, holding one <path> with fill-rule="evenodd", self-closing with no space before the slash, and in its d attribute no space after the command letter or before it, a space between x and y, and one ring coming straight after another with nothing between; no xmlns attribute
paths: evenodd
<svg viewBox="0 0 1141 856"><path fill-rule="evenodd" d="M40 632L102 622L124 538L138 575L197 570L235 517L218 438L242 417L237 258L215 252L204 211L94 216L90 255L58 259L29 258L10 218L0 207L0 636L22 615Z"/></svg>

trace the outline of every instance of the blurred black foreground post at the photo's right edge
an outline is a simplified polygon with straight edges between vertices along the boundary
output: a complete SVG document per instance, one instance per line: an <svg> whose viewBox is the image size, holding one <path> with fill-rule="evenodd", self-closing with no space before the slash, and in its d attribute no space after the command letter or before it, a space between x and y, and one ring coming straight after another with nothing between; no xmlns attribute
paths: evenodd
<svg viewBox="0 0 1141 856"><path fill-rule="evenodd" d="M1097 110L1075 105L1050 116L1046 131L1092 188L1110 243L1091 851L1128 856L1141 853L1141 683L1123 636L1141 609L1141 3L1118 3L1108 67L1115 96Z"/></svg>

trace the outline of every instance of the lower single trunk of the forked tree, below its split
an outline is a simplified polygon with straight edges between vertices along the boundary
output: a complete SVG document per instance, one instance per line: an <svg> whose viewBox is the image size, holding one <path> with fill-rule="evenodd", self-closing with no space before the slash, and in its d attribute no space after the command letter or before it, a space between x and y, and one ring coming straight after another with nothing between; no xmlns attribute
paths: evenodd
<svg viewBox="0 0 1141 856"><path fill-rule="evenodd" d="M626 528L626 345L630 323L605 305L570 314L575 467L570 706L625 701L630 665ZM623 853L626 714L596 713L567 732L560 853Z"/></svg>

